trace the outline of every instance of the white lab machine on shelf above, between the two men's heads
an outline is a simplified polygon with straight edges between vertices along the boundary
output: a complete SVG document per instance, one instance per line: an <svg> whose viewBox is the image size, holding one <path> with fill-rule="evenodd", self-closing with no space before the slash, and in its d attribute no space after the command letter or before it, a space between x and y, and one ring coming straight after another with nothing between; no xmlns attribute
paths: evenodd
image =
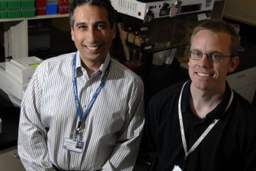
<svg viewBox="0 0 256 171"><path fill-rule="evenodd" d="M111 0L115 10L131 17L147 20L161 17L173 17L172 6L177 7L177 15L198 11L212 10L214 0L169 0L169 1L143 1L143 0ZM175 15L176 15L175 13Z"/></svg>

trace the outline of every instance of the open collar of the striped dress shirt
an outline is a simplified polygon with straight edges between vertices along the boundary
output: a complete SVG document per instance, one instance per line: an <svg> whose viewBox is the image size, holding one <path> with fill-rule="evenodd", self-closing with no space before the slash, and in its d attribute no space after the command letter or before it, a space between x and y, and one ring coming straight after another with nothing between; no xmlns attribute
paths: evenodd
<svg viewBox="0 0 256 171"><path fill-rule="evenodd" d="M108 64L109 64L109 62L110 62L110 59L111 59L111 57L110 57L110 54L108 53L107 56L106 56L106 58L105 58L105 60L104 60L103 63L100 65L99 69L98 69L97 71L95 71L95 72L93 73L93 75L94 75L95 73L100 73L100 74L101 74L100 80L101 80L102 77L103 77L103 75L106 73L106 69L107 69ZM82 68L82 63L81 63L81 59L80 59L80 52L79 52L79 50L77 50L77 52L76 52L76 72L77 72L77 71L81 71L81 68Z"/></svg>

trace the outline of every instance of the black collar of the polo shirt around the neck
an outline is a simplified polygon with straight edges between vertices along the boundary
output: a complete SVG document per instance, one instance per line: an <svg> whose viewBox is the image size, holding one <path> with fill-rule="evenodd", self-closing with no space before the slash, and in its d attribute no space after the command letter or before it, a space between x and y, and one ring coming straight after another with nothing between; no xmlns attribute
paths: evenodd
<svg viewBox="0 0 256 171"><path fill-rule="evenodd" d="M191 85L191 80L189 80L188 84L185 85L183 93L182 93L182 103L181 105L181 110L182 112L186 113L189 112L192 114L190 105L189 105L189 98L190 98L190 85ZM225 88L225 93L223 94L223 98L221 99L220 103L217 105L216 108L214 108L211 112L209 112L204 120L211 120L212 119L220 119L221 116L223 116L225 112L225 108L228 105L228 101L230 100L231 96L231 89L226 82L226 88Z"/></svg>

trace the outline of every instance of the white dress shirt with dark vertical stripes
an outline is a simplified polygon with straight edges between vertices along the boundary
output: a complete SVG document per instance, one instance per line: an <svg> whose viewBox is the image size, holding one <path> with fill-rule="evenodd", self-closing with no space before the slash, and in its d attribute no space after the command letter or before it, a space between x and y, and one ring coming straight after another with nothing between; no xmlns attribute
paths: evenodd
<svg viewBox="0 0 256 171"><path fill-rule="evenodd" d="M144 125L143 82L122 64L106 57L88 79L76 55L76 82L81 113L92 100L109 61L106 83L82 123L83 153L63 149L79 121L72 85L76 53L45 60L22 100L18 151L26 170L132 170Z"/></svg>

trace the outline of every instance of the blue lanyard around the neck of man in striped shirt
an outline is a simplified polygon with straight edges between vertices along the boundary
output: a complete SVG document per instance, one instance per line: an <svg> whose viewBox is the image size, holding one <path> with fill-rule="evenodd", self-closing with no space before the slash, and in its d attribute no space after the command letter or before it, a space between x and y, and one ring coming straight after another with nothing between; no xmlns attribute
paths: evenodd
<svg viewBox="0 0 256 171"><path fill-rule="evenodd" d="M73 82L74 96L75 96L75 101L76 101L76 110L77 110L77 115L79 117L79 123L76 128L76 131L78 133L84 117L86 117L86 115L90 112L90 110L92 109L93 103L97 99L97 96L99 95L101 89L104 87L106 77L108 76L109 69L111 66L111 61L109 61L109 63L108 63L108 66L106 68L106 73L103 75L103 78L102 78L102 81L100 82L99 87L97 88L96 92L93 94L92 100L90 101L88 107L86 107L86 110L84 111L83 115L81 115L81 108L79 106L79 99L78 99L78 93L77 93L77 82L76 82L76 55L73 57L73 63L72 63L72 82Z"/></svg>

